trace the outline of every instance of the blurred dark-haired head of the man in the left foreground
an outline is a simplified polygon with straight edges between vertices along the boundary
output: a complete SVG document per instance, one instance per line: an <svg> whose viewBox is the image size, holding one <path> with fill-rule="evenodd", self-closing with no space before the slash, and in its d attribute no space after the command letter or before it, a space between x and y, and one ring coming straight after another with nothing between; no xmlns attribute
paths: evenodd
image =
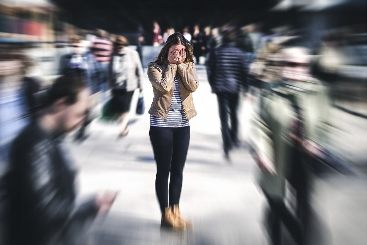
<svg viewBox="0 0 367 245"><path fill-rule="evenodd" d="M55 80L47 92L44 117L50 131L68 133L79 127L89 108L90 92L80 76L63 75Z"/></svg>

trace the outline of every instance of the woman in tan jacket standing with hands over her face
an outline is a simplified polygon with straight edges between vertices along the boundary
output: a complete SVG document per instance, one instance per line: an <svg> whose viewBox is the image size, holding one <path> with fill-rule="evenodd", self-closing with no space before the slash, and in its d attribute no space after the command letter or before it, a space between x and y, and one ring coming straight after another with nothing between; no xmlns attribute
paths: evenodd
<svg viewBox="0 0 367 245"><path fill-rule="evenodd" d="M190 140L189 120L197 115L192 99L199 86L193 45L181 33L172 34L155 62L148 64L148 78L154 93L148 112L149 136L157 163L161 226L185 228L190 222L181 217L178 205Z"/></svg>

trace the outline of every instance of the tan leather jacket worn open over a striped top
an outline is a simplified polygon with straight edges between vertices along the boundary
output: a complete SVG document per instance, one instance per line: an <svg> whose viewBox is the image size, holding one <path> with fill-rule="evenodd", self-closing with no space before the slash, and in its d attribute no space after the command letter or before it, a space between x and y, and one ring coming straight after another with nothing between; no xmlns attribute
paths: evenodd
<svg viewBox="0 0 367 245"><path fill-rule="evenodd" d="M166 60L162 65L155 62L148 64L148 78L153 86L153 102L148 113L159 118L167 119L174 91L174 78L177 75L178 86L182 100L183 111L189 120L197 115L192 100L192 93L199 86L195 65L172 64Z"/></svg>

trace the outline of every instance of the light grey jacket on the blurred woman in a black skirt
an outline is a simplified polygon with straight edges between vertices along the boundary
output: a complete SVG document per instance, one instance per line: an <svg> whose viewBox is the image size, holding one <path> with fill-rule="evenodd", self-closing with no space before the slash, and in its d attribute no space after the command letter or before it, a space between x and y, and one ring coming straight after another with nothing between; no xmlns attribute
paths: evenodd
<svg viewBox="0 0 367 245"><path fill-rule="evenodd" d="M141 67L141 61L139 58L139 54L137 51L132 50L129 47L126 47L123 51L124 55L126 55L126 89L127 91L134 91L135 89L143 89L143 69ZM116 60L118 54L113 53L112 58L109 64L109 85L110 88L114 88L117 85L117 79L119 73L116 71Z"/></svg>

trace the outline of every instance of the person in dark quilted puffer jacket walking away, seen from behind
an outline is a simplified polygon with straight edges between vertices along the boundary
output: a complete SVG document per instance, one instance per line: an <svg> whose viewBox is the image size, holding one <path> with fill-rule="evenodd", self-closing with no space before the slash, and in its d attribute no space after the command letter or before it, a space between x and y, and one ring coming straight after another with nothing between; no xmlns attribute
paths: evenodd
<svg viewBox="0 0 367 245"><path fill-rule="evenodd" d="M233 28L223 32L223 44L214 48L208 57L207 76L213 93L217 94L221 119L223 148L227 159L229 151L239 144L237 108L241 88L247 91L248 62L246 53L236 46ZM230 127L228 125L230 117Z"/></svg>

